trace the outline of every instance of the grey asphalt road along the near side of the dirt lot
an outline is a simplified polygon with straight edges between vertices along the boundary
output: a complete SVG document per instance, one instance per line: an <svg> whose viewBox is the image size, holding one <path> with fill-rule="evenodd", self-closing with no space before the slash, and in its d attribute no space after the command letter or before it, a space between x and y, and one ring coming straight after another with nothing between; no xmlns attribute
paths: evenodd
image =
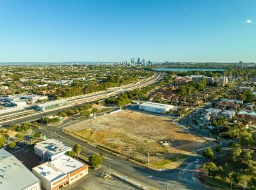
<svg viewBox="0 0 256 190"><path fill-rule="evenodd" d="M98 172L115 172L131 179L145 187L155 187L157 189L207 189L193 179L193 170L196 168L195 159L200 156L188 156L188 159L174 170L151 170L140 165L125 160L123 156L113 156L105 151L101 151L95 146L84 143L75 137L69 136L62 132L61 127L43 127L39 130L46 134L47 137L58 138L68 146L74 146L79 143L82 151L81 155L89 157L91 153L103 155L103 167ZM202 158L200 158L202 160Z"/></svg>

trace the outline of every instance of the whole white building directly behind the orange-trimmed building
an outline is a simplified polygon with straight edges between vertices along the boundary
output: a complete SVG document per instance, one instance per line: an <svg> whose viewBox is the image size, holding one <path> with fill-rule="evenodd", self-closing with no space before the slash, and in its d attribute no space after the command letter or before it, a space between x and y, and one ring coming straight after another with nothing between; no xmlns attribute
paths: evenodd
<svg viewBox="0 0 256 190"><path fill-rule="evenodd" d="M57 139L47 139L46 141L39 142L34 146L35 156L39 156L41 162L54 160L61 155L65 155L67 151L72 148L63 144Z"/></svg>

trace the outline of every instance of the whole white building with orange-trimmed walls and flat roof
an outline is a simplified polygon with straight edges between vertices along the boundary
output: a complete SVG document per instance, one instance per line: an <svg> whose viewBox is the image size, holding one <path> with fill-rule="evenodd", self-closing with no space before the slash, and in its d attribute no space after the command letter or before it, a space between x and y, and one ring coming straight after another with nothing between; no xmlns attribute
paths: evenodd
<svg viewBox="0 0 256 190"><path fill-rule="evenodd" d="M41 179L44 189L57 190L87 175L88 168L88 165L62 155L51 162L32 168L32 172Z"/></svg>

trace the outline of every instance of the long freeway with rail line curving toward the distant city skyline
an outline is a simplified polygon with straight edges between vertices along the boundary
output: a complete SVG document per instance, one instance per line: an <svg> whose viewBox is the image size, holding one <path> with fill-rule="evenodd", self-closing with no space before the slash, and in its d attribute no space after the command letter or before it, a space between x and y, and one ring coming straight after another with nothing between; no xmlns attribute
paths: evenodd
<svg viewBox="0 0 256 190"><path fill-rule="evenodd" d="M126 85L122 88L121 92L127 92L127 91L132 91L134 89L139 89L146 87L151 84L155 84L158 81L162 80L165 76L160 75L160 74L155 74L153 77L151 77L148 80L145 80L144 82L139 82L138 84L131 84L131 85ZM74 98L70 99L70 105L68 106L63 106L59 108L54 108L52 110L46 110L46 111L37 111L36 113L29 113L27 115L23 115L22 112L20 112L20 117L12 117L9 120L0 120L1 125L11 125L11 124L21 124L23 122L32 122L35 120L39 120L42 117L46 117L48 115L54 115L55 113L58 113L63 110L68 110L70 108L74 108L77 105L82 105L84 103L89 103L93 102L96 100L101 100L105 98L109 98L111 96L116 96L120 94L120 91L113 91L113 92L100 92L100 93L93 93L93 95L90 96L84 96L80 98Z"/></svg>

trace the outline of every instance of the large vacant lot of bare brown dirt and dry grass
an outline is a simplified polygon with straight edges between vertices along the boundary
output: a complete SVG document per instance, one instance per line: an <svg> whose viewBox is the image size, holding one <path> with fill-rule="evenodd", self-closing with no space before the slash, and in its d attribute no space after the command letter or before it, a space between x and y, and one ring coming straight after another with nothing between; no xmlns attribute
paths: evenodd
<svg viewBox="0 0 256 190"><path fill-rule="evenodd" d="M206 145L202 137L186 132L168 117L128 110L79 122L69 130L88 141L143 160L147 160L149 152L151 162L170 159L177 154L188 155Z"/></svg>

